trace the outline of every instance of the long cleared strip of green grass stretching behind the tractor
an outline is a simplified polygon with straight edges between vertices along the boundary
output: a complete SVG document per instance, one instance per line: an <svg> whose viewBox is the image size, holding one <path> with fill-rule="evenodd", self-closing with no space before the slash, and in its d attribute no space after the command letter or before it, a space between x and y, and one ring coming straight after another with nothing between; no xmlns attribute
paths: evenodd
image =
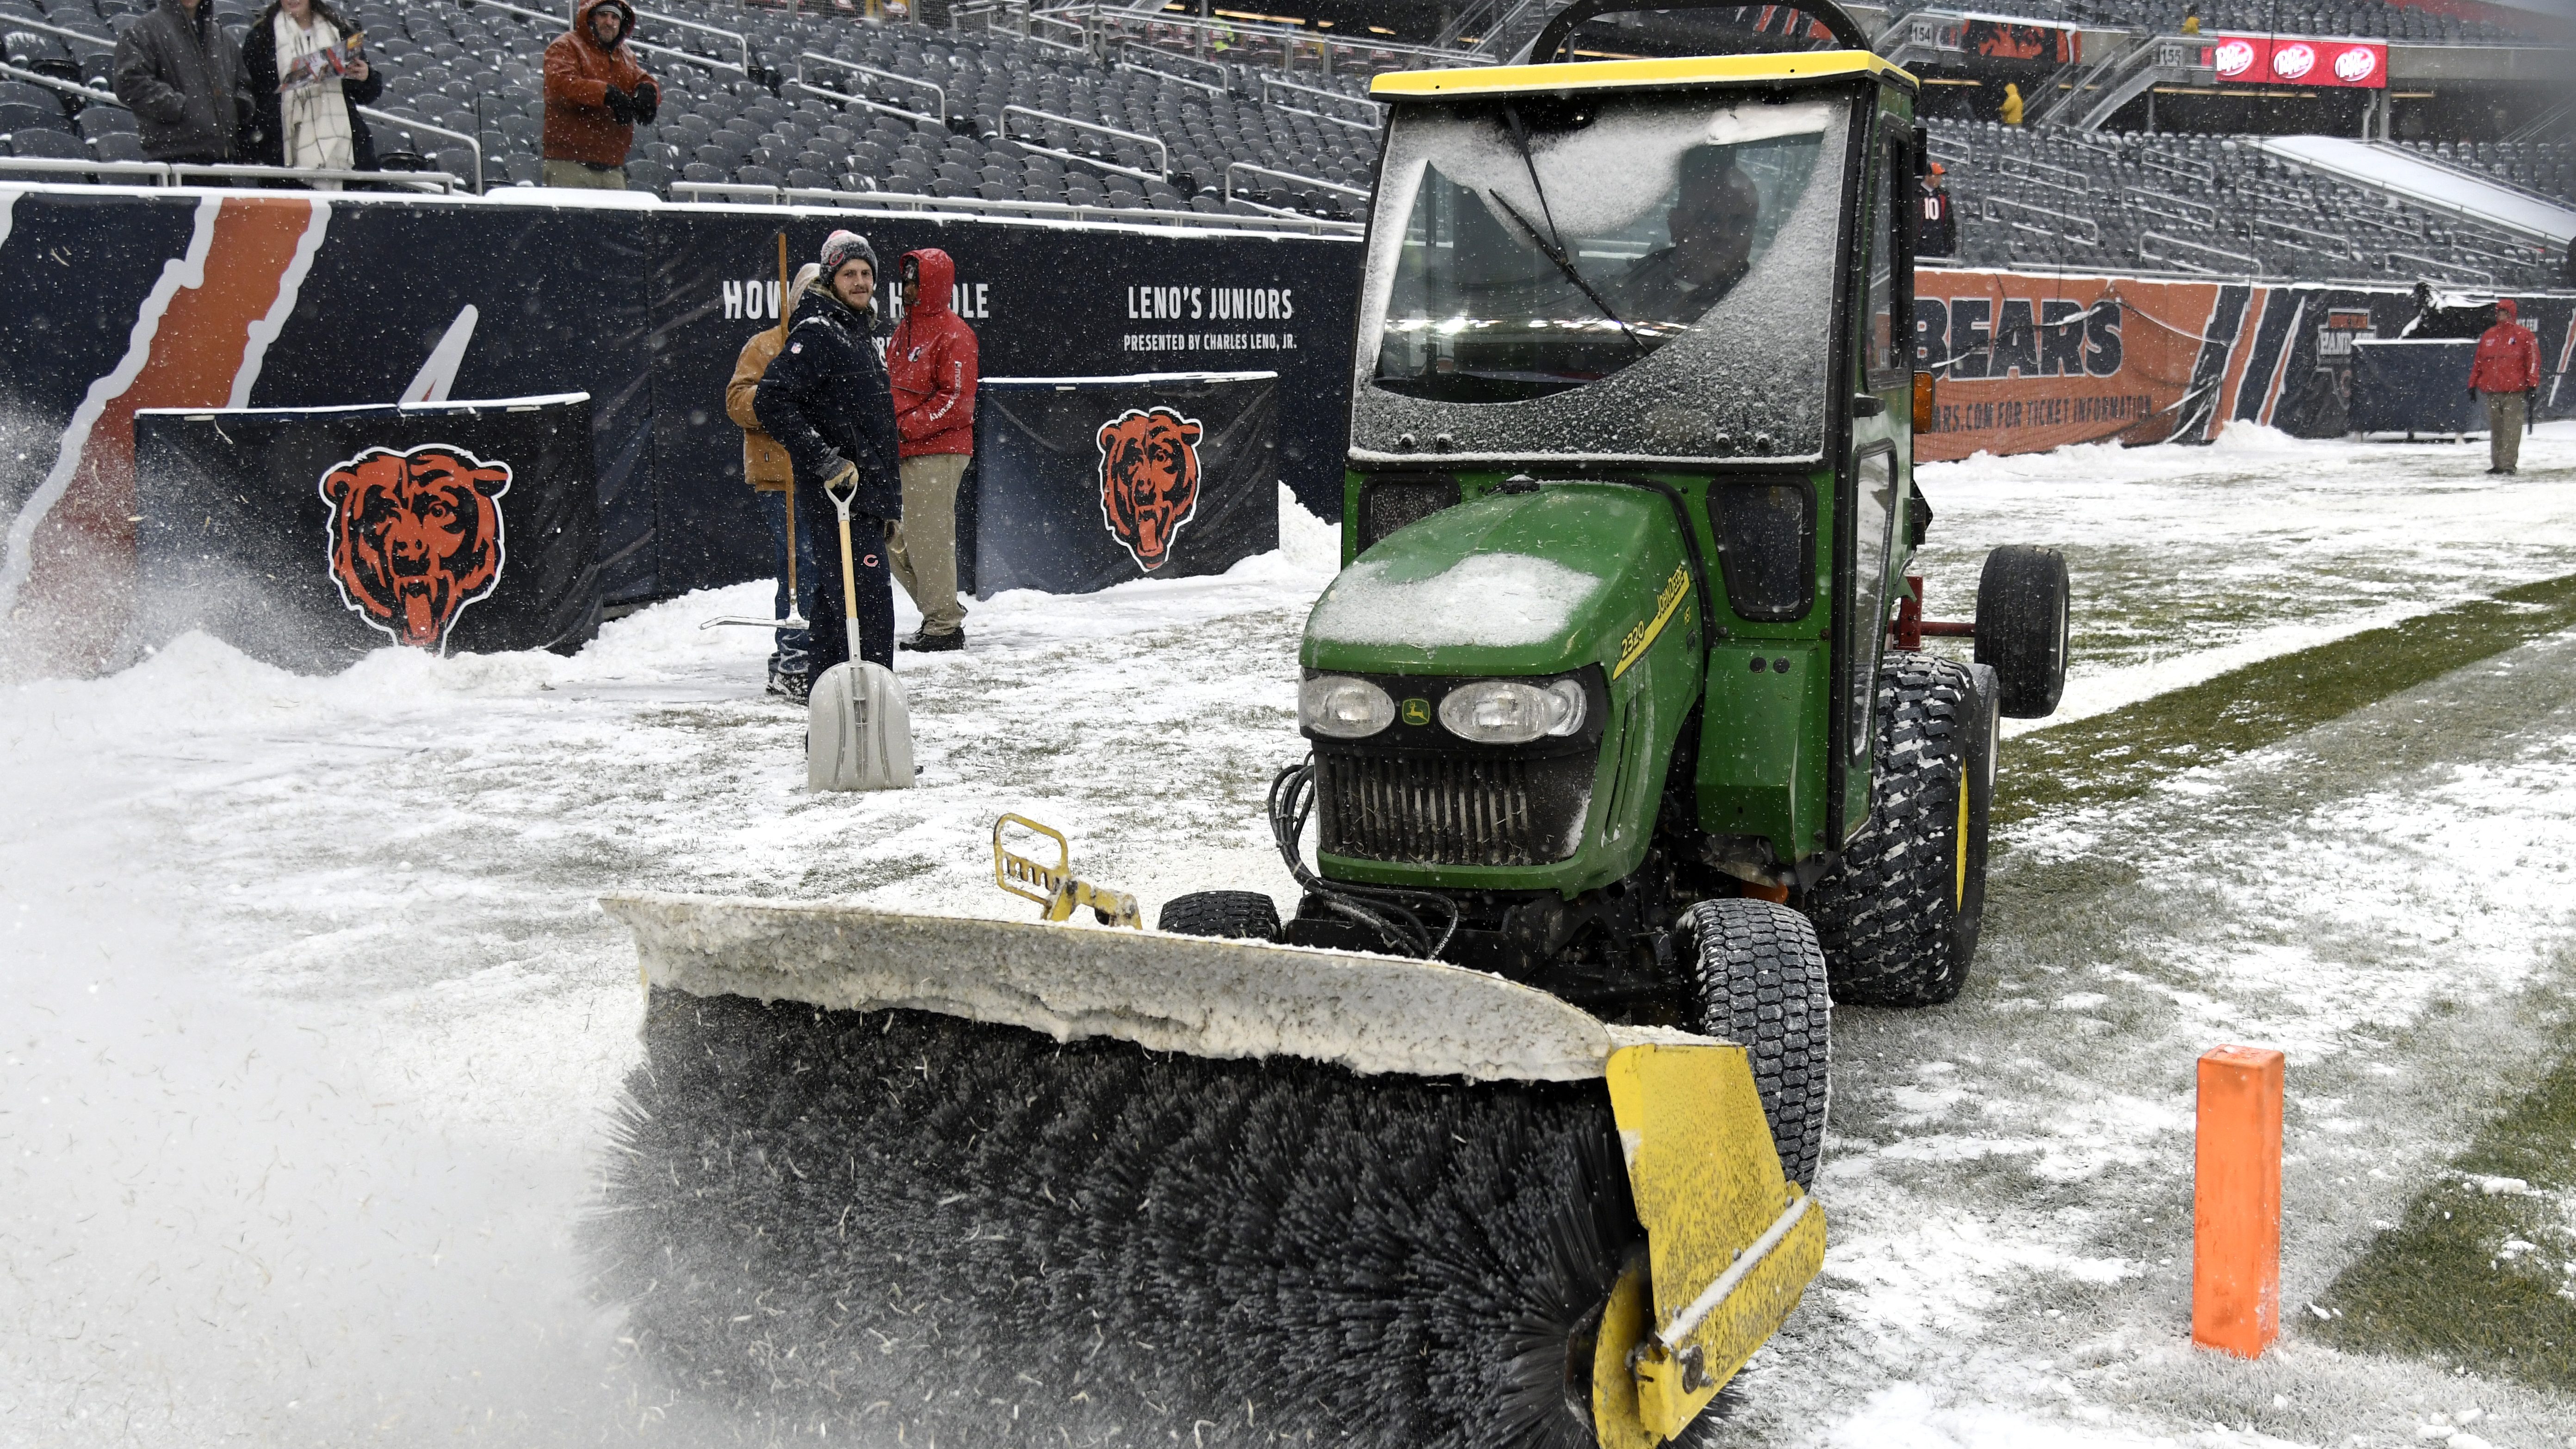
<svg viewBox="0 0 2576 1449"><path fill-rule="evenodd" d="M2215 766L2409 691L2455 668L2576 627L2576 575L2506 588L2246 665L2128 709L2012 740L1994 822L2009 825L2146 794L2156 781Z"/></svg>

